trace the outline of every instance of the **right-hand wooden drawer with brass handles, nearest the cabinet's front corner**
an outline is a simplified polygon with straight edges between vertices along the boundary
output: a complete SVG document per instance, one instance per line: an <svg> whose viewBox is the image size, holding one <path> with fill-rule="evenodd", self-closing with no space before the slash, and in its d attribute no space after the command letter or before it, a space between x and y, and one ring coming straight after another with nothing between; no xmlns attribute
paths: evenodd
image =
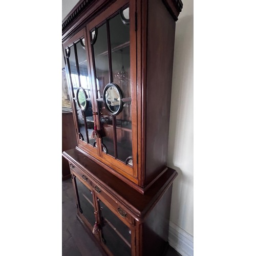
<svg viewBox="0 0 256 256"><path fill-rule="evenodd" d="M93 189L95 191L95 195L104 203L106 204L112 212L124 223L127 225L133 224L133 217L127 212L125 207L120 204L118 201L111 198L104 188L96 185L95 183L92 183ZM130 225L129 225L130 226Z"/></svg>

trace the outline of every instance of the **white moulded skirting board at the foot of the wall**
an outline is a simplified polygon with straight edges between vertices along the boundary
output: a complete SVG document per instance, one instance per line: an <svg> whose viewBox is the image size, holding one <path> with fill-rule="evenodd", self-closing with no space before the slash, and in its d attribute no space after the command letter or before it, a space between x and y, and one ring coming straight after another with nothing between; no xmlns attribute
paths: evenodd
<svg viewBox="0 0 256 256"><path fill-rule="evenodd" d="M173 222L169 223L168 243L182 256L194 255L194 237Z"/></svg>

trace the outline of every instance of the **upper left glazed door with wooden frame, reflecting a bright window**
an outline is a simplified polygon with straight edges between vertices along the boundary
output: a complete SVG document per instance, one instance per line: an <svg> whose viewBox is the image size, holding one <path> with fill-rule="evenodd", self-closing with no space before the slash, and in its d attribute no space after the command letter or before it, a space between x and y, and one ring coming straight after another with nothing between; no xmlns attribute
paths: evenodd
<svg viewBox="0 0 256 256"><path fill-rule="evenodd" d="M85 30L81 30L66 41L63 48L78 145L98 154L98 149L95 147L97 142L92 136L95 126L95 102L90 81L87 40L84 32Z"/></svg>

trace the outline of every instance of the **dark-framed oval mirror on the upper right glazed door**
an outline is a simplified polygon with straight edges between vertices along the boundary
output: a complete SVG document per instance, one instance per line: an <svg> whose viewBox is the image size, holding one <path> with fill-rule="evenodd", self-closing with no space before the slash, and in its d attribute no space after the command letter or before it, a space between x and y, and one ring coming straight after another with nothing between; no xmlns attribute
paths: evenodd
<svg viewBox="0 0 256 256"><path fill-rule="evenodd" d="M103 102L105 108L111 115L118 115L122 111L122 92L119 86L115 83L106 85L103 91Z"/></svg>

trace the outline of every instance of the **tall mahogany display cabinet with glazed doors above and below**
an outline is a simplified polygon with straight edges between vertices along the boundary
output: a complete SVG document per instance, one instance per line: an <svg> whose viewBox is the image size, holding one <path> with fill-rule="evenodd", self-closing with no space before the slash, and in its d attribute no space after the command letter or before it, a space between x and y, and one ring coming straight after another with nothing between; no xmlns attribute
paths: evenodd
<svg viewBox="0 0 256 256"><path fill-rule="evenodd" d="M77 216L109 255L162 255L176 170L166 166L180 0L79 1L62 22L77 146Z"/></svg>

